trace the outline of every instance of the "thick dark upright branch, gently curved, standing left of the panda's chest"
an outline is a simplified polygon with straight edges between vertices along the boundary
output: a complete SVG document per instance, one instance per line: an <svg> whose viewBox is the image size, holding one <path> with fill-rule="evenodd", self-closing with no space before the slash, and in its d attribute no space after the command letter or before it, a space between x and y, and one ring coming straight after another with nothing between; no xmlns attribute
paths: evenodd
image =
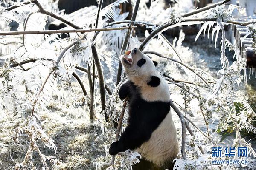
<svg viewBox="0 0 256 170"><path fill-rule="evenodd" d="M101 63L100 63L100 60L99 60L99 57L98 57L98 54L96 51L96 47L94 44L92 44L92 54L93 54L93 59L94 59L94 62L95 62L96 68L97 68L98 75L99 75L100 99L101 99L102 110L104 110L106 107L104 76L103 76L103 72L102 72ZM88 73L88 74L90 74L90 73Z"/></svg>

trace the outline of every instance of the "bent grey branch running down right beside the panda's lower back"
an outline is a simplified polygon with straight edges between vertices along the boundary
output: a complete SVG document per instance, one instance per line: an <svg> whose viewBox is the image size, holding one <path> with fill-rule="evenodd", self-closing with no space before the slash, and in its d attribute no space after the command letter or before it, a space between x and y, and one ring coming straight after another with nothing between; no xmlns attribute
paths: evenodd
<svg viewBox="0 0 256 170"><path fill-rule="evenodd" d="M172 109L177 113L177 115L180 118L181 122L181 131L182 131L182 138L181 138L181 155L184 160L186 160L186 151L185 151L185 140L186 140L186 124L183 114L180 112L180 110L175 106L175 104L170 100L170 105Z"/></svg>

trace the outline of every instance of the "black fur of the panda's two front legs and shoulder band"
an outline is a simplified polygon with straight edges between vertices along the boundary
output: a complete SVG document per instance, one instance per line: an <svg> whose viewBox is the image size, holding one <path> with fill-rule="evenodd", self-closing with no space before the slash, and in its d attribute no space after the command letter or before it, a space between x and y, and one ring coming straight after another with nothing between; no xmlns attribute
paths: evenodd
<svg viewBox="0 0 256 170"><path fill-rule="evenodd" d="M113 142L109 154L116 155L125 150L134 150L148 141L151 134L170 111L169 102L147 102L140 96L140 91L131 81L126 82L119 90L121 99L128 97L128 126L119 141Z"/></svg>

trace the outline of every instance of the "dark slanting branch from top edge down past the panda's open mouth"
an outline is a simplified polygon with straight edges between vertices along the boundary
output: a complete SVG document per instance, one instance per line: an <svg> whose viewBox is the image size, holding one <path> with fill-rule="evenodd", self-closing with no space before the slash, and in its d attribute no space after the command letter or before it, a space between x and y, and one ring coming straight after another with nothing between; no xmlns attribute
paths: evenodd
<svg viewBox="0 0 256 170"><path fill-rule="evenodd" d="M138 9L139 9L139 5L140 5L140 0L137 0L136 4L135 4L135 7L134 7L134 12L133 12L132 17L131 17L131 21L135 21L136 16L137 16L137 12L138 12ZM133 26L133 25L134 24L130 24L130 26ZM131 29L127 30L127 32L126 32L125 40L122 44L122 48L121 48L119 56L124 54L124 52L127 48L130 36L131 36ZM121 63L121 60L119 59L118 71L117 71L117 76L116 76L116 85L118 85L119 82L121 81L121 74L122 74L122 63Z"/></svg>

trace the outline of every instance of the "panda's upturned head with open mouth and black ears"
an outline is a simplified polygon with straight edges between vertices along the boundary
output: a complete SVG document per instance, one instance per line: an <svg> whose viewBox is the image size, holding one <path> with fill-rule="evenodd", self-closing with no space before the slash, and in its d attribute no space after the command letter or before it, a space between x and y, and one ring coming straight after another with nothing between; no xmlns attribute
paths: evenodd
<svg viewBox="0 0 256 170"><path fill-rule="evenodd" d="M121 57L122 65L131 82L138 86L157 87L160 85L160 75L155 68L157 62L153 62L137 48L125 53L128 55L131 53L131 57L127 55Z"/></svg>

